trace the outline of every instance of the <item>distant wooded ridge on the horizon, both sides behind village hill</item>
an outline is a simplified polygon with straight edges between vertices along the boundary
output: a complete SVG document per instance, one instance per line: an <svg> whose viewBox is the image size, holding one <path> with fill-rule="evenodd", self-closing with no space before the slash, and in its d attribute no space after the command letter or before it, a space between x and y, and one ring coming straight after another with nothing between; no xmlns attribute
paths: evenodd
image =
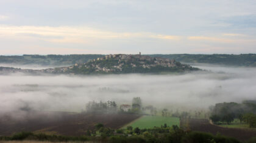
<svg viewBox="0 0 256 143"><path fill-rule="evenodd" d="M101 58L105 55L23 55L23 56L0 56L0 64L29 65L37 64L43 66L66 66L82 64L91 59ZM175 59L179 62L187 63L205 63L232 66L256 67L256 54L241 55L190 55L190 54L172 54L172 55L146 55L157 58Z"/></svg>

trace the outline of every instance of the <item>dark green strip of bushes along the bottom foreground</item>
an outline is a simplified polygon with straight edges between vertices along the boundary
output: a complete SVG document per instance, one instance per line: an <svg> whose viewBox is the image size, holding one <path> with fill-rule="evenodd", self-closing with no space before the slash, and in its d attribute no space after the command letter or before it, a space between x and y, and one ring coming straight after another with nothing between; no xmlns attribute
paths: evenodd
<svg viewBox="0 0 256 143"><path fill-rule="evenodd" d="M120 130L119 130L120 131ZM236 139L226 136L216 135L213 136L209 133L202 133L197 131L184 131L174 125L173 127L154 127L149 129L134 128L132 130L124 130L123 133L114 135L114 131L110 128L101 127L96 132L91 131L89 136L61 136L61 135L46 135L35 134L30 132L16 133L13 136L0 136L0 141L52 141L52 142L67 142L67 141L92 141L92 142L240 142ZM130 135L130 136L128 136ZM255 139L251 139L255 141Z"/></svg>

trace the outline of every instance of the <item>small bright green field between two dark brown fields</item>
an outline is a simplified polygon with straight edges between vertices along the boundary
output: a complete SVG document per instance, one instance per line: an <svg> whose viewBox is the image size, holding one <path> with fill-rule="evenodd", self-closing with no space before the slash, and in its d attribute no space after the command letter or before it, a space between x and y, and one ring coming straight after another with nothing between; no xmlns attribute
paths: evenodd
<svg viewBox="0 0 256 143"><path fill-rule="evenodd" d="M163 124L167 124L169 127L172 125L180 125L179 118L175 117L162 117L162 116L143 116L130 124L127 124L123 128L127 126L132 126L133 128L153 128L153 127L161 127Z"/></svg>

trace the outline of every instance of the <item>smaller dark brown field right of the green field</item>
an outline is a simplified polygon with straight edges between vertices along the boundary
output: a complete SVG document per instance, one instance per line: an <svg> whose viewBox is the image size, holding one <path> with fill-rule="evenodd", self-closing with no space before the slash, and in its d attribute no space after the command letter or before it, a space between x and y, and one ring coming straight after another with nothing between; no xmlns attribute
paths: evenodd
<svg viewBox="0 0 256 143"><path fill-rule="evenodd" d="M207 119L190 119L189 127L193 131L204 131L213 135L220 133L221 135L230 136L241 141L256 137L255 130L219 127L218 125L210 124Z"/></svg>

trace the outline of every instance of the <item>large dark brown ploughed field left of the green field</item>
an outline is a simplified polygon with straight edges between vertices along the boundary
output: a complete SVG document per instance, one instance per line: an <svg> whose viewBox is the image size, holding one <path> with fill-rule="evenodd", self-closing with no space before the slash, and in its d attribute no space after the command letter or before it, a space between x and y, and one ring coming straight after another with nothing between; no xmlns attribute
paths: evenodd
<svg viewBox="0 0 256 143"><path fill-rule="evenodd" d="M95 124L102 123L105 127L120 128L139 118L131 114L92 114L68 112L34 112L26 118L0 118L0 135L12 135L20 131L34 131L57 135L85 135Z"/></svg>

